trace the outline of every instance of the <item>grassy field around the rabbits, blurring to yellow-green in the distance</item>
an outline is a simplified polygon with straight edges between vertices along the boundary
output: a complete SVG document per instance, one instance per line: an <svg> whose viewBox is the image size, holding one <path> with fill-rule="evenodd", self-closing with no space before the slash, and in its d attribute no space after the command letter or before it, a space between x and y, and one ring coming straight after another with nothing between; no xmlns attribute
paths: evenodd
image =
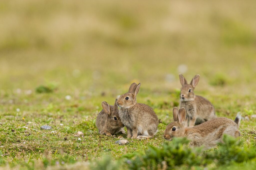
<svg viewBox="0 0 256 170"><path fill-rule="evenodd" d="M0 167L89 168L104 154L119 164L123 155L161 148L179 103L178 73L188 80L200 74L195 93L212 102L217 116L234 119L241 111L246 118L241 138L255 145L255 5L252 0L1 2ZM153 139L128 139L119 146L117 138L97 133L95 119L101 102L113 104L132 82L141 82L137 101L150 105L162 123ZM52 130L40 130L42 125ZM84 133L81 141L77 131ZM207 165L216 166L255 163Z"/></svg>

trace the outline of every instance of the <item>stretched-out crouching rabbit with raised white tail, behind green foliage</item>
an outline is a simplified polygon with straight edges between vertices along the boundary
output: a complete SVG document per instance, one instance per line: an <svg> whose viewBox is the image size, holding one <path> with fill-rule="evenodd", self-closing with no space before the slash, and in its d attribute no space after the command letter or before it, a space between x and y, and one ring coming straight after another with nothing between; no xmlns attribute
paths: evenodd
<svg viewBox="0 0 256 170"><path fill-rule="evenodd" d="M241 121L240 112L237 113L234 121L220 117L194 127L184 127L183 122L186 119L186 110L185 108L178 110L175 107L173 109L173 119L174 122L167 125L164 131L164 138L168 141L171 141L173 137L187 137L190 140L190 146L204 145L204 150L207 150L222 142L223 134L234 137L240 136L238 130Z"/></svg>

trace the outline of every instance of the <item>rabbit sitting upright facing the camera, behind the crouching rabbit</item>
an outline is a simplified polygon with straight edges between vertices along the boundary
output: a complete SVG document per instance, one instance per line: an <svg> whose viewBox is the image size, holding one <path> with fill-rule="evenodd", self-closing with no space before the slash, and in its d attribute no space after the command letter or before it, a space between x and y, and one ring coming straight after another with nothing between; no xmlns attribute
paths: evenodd
<svg viewBox="0 0 256 170"><path fill-rule="evenodd" d="M214 106L207 99L194 94L194 89L199 81L199 75L191 80L190 84L179 74L179 80L182 85L180 90L180 108L184 107L187 111L184 126L192 127L196 121L203 123L216 118Z"/></svg>

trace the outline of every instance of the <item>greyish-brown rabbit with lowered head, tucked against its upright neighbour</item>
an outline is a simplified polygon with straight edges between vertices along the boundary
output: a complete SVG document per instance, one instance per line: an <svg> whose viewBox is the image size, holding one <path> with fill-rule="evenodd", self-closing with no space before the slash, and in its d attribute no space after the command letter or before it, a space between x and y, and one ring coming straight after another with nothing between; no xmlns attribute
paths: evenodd
<svg viewBox="0 0 256 170"><path fill-rule="evenodd" d="M109 105L107 102L102 102L103 110L98 114L96 119L96 126L100 134L105 134L107 136L114 135L116 133L125 133L124 125L119 117L119 110L116 105Z"/></svg>

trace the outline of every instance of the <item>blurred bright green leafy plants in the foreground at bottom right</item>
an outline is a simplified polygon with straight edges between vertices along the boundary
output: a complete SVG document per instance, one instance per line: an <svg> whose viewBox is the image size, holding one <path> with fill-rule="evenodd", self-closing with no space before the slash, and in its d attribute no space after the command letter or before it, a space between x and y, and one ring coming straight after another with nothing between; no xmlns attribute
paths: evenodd
<svg viewBox="0 0 256 170"><path fill-rule="evenodd" d="M230 165L242 163L256 158L253 147L242 145L242 140L224 135L219 149L212 152L202 152L201 147L191 148L189 141L184 138L173 139L161 147L150 146L144 154L125 155L129 158L130 169L173 169L179 166L206 167L210 164ZM128 161L128 162L129 162Z"/></svg>

